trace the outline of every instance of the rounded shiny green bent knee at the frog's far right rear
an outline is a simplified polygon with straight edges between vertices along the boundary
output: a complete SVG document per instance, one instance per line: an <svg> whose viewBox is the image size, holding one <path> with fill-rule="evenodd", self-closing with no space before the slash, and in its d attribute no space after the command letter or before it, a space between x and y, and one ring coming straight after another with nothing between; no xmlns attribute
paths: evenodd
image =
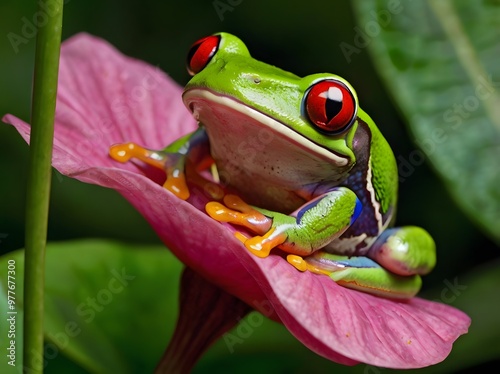
<svg viewBox="0 0 500 374"><path fill-rule="evenodd" d="M429 233L420 227L395 227L379 236L368 257L395 274L425 275L436 264L436 246Z"/></svg>

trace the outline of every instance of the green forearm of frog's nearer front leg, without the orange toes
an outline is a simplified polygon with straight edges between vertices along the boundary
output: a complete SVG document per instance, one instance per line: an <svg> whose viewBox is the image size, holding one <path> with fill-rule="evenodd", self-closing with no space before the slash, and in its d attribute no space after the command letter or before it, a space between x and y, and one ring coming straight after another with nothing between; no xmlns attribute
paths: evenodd
<svg viewBox="0 0 500 374"><path fill-rule="evenodd" d="M280 248L302 256L311 254L342 235L358 218L361 207L356 194L345 187L309 201L291 214L295 225L287 227L287 239ZM279 231L279 216L274 219Z"/></svg>

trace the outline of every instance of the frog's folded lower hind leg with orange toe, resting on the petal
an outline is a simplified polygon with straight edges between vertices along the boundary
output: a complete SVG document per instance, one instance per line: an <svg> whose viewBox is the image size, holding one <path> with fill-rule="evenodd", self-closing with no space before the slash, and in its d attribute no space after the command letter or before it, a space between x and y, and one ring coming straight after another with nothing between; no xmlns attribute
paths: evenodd
<svg viewBox="0 0 500 374"><path fill-rule="evenodd" d="M364 256L347 257L320 250L304 258L288 255L287 261L300 271L324 274L343 287L386 298L412 298L422 285L420 276L393 274Z"/></svg>

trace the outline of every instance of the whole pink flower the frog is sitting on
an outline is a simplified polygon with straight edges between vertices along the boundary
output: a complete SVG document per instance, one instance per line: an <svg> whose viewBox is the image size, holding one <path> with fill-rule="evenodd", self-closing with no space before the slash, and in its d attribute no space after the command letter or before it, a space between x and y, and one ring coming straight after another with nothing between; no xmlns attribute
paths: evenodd
<svg viewBox="0 0 500 374"><path fill-rule="evenodd" d="M442 361L470 319L444 304L393 301L301 273L279 256L257 258L235 229L206 215L201 196L176 198L158 176L108 157L112 144L162 149L196 128L182 89L106 42L77 35L63 43L53 165L86 183L113 188L153 226L187 266L265 315L281 321L308 348L338 363L417 368ZM30 126L6 115L29 142ZM193 203L194 201L194 203Z"/></svg>

